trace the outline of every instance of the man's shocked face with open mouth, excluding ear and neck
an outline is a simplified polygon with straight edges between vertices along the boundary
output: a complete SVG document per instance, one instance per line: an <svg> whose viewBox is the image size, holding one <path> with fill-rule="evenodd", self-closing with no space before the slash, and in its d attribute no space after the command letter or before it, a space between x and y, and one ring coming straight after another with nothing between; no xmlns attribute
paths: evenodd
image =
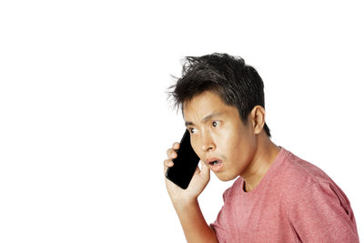
<svg viewBox="0 0 364 243"><path fill-rule="evenodd" d="M184 104L184 118L192 147L220 180L231 180L244 172L257 149L250 118L244 126L238 109L209 91Z"/></svg>

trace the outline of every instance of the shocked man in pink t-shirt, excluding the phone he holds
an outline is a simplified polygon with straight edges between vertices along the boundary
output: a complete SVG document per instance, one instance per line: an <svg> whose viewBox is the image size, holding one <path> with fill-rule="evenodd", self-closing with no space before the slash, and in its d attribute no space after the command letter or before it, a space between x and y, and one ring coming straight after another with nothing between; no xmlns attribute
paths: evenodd
<svg viewBox="0 0 364 243"><path fill-rule="evenodd" d="M188 242L359 242L344 192L319 167L270 140L263 81L242 58L187 57L171 89L202 162L187 189L166 179ZM167 150L165 173L178 147ZM238 179L207 225L197 197L210 169L222 181Z"/></svg>

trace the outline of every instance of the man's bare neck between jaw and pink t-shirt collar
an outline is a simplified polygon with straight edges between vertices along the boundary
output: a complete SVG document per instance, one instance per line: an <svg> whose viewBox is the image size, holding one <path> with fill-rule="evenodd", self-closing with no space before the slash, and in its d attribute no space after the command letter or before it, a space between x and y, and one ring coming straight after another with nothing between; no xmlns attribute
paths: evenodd
<svg viewBox="0 0 364 243"><path fill-rule="evenodd" d="M251 191L268 172L279 153L276 146L266 135L258 135L258 146L255 156L248 167L240 175L245 180L245 191Z"/></svg>

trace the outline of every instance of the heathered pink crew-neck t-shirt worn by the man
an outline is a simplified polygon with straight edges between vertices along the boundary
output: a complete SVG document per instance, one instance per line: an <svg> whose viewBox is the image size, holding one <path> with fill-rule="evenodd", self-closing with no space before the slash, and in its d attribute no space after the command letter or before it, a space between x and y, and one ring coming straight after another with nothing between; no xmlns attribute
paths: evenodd
<svg viewBox="0 0 364 243"><path fill-rule="evenodd" d="M359 242L348 197L319 167L281 147L257 187L238 177L211 227L219 242Z"/></svg>

